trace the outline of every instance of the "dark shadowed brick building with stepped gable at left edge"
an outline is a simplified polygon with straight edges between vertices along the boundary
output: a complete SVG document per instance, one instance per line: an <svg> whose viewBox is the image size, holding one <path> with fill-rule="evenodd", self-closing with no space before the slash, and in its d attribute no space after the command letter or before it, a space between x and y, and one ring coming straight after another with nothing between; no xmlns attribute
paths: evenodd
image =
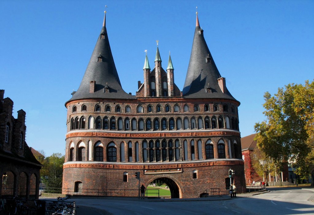
<svg viewBox="0 0 314 215"><path fill-rule="evenodd" d="M42 167L25 142L24 110L14 119L13 101L0 90L0 196L38 198Z"/></svg>

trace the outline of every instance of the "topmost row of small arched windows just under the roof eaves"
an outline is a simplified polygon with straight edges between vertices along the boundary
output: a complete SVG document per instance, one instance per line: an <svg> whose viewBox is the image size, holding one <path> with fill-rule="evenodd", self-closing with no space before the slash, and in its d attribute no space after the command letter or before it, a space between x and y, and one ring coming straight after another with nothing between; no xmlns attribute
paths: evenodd
<svg viewBox="0 0 314 215"><path fill-rule="evenodd" d="M82 105L81 107L81 111L86 111L87 110L87 106L85 104ZM147 111L146 113L180 113L181 108L178 104L174 105L173 108L170 107L169 104L165 105L164 107L162 107L160 104L156 105L155 107L153 107L153 105L148 105L147 106ZM203 110L204 112L219 112L219 105L218 104L214 104L212 105L212 107L210 107L209 104L205 104L203 106ZM100 104L96 104L94 107L94 111L95 112L100 112L101 111L101 106ZM223 105L223 112L228 112L229 111L229 107L228 105L224 104ZM72 112L77 112L77 107L73 106L72 107ZM106 105L105 106L105 112L111 112L111 106L110 105ZM116 113L122 113L122 107L120 105L116 105L116 107L114 108L114 111ZM183 112L200 112L200 107L198 104L195 104L193 109L190 111L190 107L189 105L185 104L183 106ZM235 107L231 106L231 112L235 113ZM132 113L131 111L131 107L130 106L126 106L125 107L125 113ZM144 113L144 108L143 105L138 105L137 109L136 109L136 113Z"/></svg>

